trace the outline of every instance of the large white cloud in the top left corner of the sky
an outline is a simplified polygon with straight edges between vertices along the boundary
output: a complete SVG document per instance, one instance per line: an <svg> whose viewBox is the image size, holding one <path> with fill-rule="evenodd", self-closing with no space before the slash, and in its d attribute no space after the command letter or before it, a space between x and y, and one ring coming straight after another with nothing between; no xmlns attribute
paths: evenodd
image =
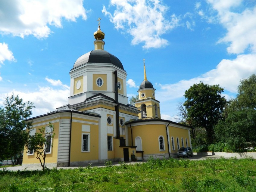
<svg viewBox="0 0 256 192"><path fill-rule="evenodd" d="M0 1L0 31L24 37L48 37L49 25L62 27L61 20L76 21L82 16L86 20L83 0L8 0Z"/></svg>

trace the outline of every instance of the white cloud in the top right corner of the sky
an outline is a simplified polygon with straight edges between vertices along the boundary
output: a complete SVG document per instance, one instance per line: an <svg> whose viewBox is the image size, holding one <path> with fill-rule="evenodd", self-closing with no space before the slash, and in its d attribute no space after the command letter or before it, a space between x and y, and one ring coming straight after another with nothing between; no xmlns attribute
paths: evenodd
<svg viewBox="0 0 256 192"><path fill-rule="evenodd" d="M240 10L242 0L208 0L217 11L219 22L226 28L226 35L218 42L229 43L227 52L241 54L247 48L256 53L256 5Z"/></svg>

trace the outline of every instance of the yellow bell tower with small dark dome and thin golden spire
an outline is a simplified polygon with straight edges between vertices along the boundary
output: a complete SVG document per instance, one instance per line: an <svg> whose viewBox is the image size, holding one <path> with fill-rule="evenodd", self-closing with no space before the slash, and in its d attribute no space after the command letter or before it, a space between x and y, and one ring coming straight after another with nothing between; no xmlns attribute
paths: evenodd
<svg viewBox="0 0 256 192"><path fill-rule="evenodd" d="M139 86L139 100L135 101L135 107L141 111L139 119L161 119L160 104L155 99L155 88L152 83L148 81L146 75L145 59L144 63L144 80Z"/></svg>

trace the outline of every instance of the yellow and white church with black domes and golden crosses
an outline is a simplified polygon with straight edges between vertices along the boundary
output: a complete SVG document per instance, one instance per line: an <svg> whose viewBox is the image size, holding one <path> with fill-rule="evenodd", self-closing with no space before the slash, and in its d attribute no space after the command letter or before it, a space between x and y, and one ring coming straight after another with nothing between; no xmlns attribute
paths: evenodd
<svg viewBox="0 0 256 192"><path fill-rule="evenodd" d="M190 127L161 119L155 88L146 76L139 100L128 103L125 67L104 50L105 33L94 33L94 50L79 57L70 70L68 104L36 116L30 134L51 122L55 137L47 149L47 167L87 166L88 163L176 157L191 147ZM142 73L143 74L143 73ZM47 130L47 129L46 129ZM51 135L52 133L47 133ZM40 167L36 154L24 148L23 167Z"/></svg>

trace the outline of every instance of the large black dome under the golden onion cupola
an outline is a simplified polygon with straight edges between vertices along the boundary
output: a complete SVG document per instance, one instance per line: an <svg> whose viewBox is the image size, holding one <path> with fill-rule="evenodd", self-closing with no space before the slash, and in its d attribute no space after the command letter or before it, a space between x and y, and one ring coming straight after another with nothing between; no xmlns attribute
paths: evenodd
<svg viewBox="0 0 256 192"><path fill-rule="evenodd" d="M112 63L113 65L123 70L123 65L121 61L116 56L104 50L92 50L82 55L76 60L73 68L83 65L85 63Z"/></svg>

